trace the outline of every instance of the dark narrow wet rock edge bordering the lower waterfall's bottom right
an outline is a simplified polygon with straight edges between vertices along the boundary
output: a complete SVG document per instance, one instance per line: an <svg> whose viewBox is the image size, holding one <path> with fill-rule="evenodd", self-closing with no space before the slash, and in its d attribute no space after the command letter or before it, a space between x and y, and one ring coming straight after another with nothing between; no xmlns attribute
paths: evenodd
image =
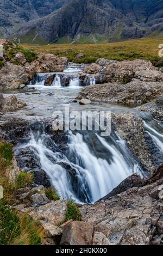
<svg viewBox="0 0 163 256"><path fill-rule="evenodd" d="M128 178L126 178L125 180L123 180L120 185L118 185L116 188L114 188L114 190L112 190L105 197L99 199L98 202L101 200L105 200L110 197L116 196L116 194L120 194L124 191L127 191L129 188L141 187L142 184L143 184L143 181L140 178L140 176L137 174L133 174L133 175L129 176Z"/></svg>

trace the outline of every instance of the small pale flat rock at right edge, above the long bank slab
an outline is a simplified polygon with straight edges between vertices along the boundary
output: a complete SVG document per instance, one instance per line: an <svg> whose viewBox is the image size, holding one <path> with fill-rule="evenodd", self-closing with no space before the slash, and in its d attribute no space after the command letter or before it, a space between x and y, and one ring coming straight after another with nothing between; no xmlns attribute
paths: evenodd
<svg viewBox="0 0 163 256"><path fill-rule="evenodd" d="M158 70L139 70L135 72L135 78L146 82L163 81L163 74Z"/></svg>

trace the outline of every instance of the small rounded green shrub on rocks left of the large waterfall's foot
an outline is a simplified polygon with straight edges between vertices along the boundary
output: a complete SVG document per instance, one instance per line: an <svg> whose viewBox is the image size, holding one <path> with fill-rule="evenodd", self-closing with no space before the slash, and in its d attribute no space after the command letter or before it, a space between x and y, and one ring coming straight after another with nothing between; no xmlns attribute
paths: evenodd
<svg viewBox="0 0 163 256"><path fill-rule="evenodd" d="M34 180L33 173L22 172L16 178L16 181L15 181L16 188L18 189L18 188L30 186L33 180Z"/></svg>

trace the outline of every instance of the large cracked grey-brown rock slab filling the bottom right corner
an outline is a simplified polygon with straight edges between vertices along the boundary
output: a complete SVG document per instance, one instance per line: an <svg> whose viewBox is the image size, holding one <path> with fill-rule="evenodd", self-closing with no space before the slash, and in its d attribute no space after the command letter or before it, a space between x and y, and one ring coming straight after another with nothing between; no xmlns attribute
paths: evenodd
<svg viewBox="0 0 163 256"><path fill-rule="evenodd" d="M162 232L161 202L150 196L163 179L130 188L93 205L83 205L82 220L93 222L93 245L149 245Z"/></svg>

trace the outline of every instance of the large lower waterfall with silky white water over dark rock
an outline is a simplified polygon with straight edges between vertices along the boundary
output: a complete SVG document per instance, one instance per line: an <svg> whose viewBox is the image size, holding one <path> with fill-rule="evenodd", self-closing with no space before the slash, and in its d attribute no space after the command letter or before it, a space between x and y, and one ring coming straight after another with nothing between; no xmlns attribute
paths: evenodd
<svg viewBox="0 0 163 256"><path fill-rule="evenodd" d="M23 145L34 150L61 198L93 203L129 175L143 175L126 143L115 133L109 142L93 132L84 136L69 132L64 153L45 131L32 131L30 142Z"/></svg>

